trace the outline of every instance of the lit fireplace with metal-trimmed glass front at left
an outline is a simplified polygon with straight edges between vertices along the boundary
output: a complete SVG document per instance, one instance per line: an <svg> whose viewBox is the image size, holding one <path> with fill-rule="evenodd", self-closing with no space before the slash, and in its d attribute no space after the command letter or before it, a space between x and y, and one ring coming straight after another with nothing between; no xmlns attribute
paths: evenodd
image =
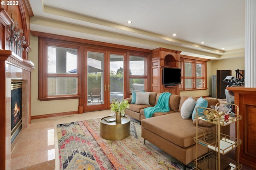
<svg viewBox="0 0 256 170"><path fill-rule="evenodd" d="M11 143L22 128L22 82L11 84Z"/></svg>

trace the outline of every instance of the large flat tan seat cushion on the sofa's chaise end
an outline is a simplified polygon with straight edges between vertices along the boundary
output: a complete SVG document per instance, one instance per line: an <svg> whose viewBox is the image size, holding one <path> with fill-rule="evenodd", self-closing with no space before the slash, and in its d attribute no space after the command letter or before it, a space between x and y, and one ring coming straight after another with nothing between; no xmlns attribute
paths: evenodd
<svg viewBox="0 0 256 170"><path fill-rule="evenodd" d="M180 147L186 148L195 144L193 137L196 136L196 126L191 119L182 119L180 112L143 119L141 125ZM205 132L198 128L198 135Z"/></svg>

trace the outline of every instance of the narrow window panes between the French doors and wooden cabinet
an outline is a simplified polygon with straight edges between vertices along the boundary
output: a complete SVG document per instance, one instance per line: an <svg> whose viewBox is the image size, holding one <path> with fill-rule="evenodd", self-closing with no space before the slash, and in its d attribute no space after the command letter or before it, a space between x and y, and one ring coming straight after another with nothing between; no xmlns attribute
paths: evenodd
<svg viewBox="0 0 256 170"><path fill-rule="evenodd" d="M129 57L129 84L131 90L145 90L145 57Z"/></svg>

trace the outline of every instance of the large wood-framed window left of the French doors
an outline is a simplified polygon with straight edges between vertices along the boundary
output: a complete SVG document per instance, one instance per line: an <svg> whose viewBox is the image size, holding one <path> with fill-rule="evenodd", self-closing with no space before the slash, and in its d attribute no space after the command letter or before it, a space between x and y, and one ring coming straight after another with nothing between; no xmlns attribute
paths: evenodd
<svg viewBox="0 0 256 170"><path fill-rule="evenodd" d="M38 99L78 98L79 47L44 42L40 50L45 51L39 51Z"/></svg>

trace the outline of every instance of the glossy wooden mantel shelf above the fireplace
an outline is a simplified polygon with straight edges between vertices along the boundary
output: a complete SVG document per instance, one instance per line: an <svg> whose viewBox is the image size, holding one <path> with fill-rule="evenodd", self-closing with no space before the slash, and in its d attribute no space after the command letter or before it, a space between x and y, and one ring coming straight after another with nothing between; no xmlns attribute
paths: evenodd
<svg viewBox="0 0 256 170"><path fill-rule="evenodd" d="M8 63L28 71L35 69L34 63L29 60L20 58L10 50L0 50L0 60L6 60Z"/></svg>

